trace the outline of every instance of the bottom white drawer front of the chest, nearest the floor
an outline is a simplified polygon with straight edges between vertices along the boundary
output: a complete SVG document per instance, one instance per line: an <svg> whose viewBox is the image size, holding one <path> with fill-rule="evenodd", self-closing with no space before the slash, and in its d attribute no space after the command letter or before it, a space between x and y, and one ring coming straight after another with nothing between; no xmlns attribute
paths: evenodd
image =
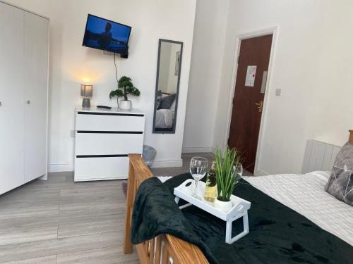
<svg viewBox="0 0 353 264"><path fill-rule="evenodd" d="M128 177L128 157L75 158L75 181Z"/></svg>

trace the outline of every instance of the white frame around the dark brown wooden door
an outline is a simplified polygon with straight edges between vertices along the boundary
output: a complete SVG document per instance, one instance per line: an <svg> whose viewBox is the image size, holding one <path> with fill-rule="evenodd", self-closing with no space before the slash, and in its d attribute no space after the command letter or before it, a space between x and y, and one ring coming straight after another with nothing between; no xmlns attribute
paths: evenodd
<svg viewBox="0 0 353 264"><path fill-rule="evenodd" d="M258 147L256 150L256 160L255 160L255 169L254 169L254 175L265 175L267 174L266 172L261 171L258 168L258 164L260 161L260 153L261 153L261 147L262 147L262 142L263 142L263 127L265 126L265 122L267 120L267 108L268 108L268 103L269 103L269 94L271 92L271 75L272 75L272 70L273 70L273 61L275 58L275 49L277 46L277 36L278 36L278 27L267 27L262 30L254 30L251 32L245 32L243 34L237 34L237 40L235 44L235 54L234 54L234 65L233 65L233 77L232 77L232 86L229 91L229 101L228 101L228 113L227 113L227 123L226 123L226 129L225 129L225 141L223 146L226 147L228 144L228 138L229 138L229 130L230 130L230 122L232 119L232 110L233 110L233 97L235 96L235 83L237 81L237 71L238 71L238 58L240 54L240 44L241 40L243 39L251 39L253 37L261 37L265 36L267 34L273 34L273 40L271 44L271 51L270 51L270 62L268 63L268 79L266 81L266 91L265 91L265 97L263 99L263 113L261 116L261 122L260 122L260 132L258 134Z"/></svg>

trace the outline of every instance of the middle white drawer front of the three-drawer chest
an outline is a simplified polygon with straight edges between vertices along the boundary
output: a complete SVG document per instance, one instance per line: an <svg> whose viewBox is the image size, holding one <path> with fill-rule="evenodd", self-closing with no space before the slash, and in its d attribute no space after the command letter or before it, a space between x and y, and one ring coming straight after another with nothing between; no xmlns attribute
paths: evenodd
<svg viewBox="0 0 353 264"><path fill-rule="evenodd" d="M143 134L76 132L76 155L142 153Z"/></svg>

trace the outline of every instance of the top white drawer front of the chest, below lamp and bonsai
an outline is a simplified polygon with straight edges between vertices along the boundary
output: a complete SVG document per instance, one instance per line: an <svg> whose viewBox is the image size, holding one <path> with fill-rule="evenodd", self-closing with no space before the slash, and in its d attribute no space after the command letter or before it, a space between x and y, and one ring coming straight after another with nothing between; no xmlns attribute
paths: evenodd
<svg viewBox="0 0 353 264"><path fill-rule="evenodd" d="M85 113L85 112L83 112ZM142 114L141 114L142 115ZM138 115L95 115L76 112L76 130L90 131L143 131L145 116Z"/></svg>

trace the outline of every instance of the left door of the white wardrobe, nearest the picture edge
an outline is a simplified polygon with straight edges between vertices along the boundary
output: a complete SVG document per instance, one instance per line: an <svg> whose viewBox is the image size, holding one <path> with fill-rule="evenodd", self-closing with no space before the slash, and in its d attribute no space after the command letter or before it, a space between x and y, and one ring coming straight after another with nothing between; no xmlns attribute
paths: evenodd
<svg viewBox="0 0 353 264"><path fill-rule="evenodd" d="M0 194L23 184L23 11L0 2Z"/></svg>

